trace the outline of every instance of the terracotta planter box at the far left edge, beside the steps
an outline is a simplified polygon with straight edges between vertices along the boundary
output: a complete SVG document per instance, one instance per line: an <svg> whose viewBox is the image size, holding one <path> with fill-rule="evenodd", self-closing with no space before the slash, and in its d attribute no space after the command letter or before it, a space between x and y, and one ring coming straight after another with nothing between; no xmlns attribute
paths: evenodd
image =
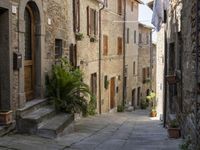
<svg viewBox="0 0 200 150"><path fill-rule="evenodd" d="M12 111L0 111L0 125L12 123Z"/></svg>

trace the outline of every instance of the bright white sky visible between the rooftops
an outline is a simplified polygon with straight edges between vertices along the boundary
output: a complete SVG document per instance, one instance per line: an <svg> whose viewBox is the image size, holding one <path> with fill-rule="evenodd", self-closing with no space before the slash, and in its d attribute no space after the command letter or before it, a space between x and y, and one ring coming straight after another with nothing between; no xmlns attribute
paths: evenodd
<svg viewBox="0 0 200 150"><path fill-rule="evenodd" d="M146 5L147 0L142 0L145 5L139 6L139 21L141 23L151 25L152 10ZM156 32L153 33L153 42L156 42Z"/></svg>

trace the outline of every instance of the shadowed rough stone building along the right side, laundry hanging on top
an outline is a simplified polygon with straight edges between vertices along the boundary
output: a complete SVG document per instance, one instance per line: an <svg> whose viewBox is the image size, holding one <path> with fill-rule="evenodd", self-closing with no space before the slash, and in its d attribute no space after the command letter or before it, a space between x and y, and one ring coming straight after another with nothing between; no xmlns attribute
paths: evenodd
<svg viewBox="0 0 200 150"><path fill-rule="evenodd" d="M167 20L167 119L175 116L190 148L200 148L199 1L171 1Z"/></svg>

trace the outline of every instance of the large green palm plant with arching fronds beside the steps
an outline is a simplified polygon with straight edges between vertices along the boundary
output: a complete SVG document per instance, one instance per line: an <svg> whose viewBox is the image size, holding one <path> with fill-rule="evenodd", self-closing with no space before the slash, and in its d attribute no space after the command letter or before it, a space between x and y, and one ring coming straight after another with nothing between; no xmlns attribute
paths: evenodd
<svg viewBox="0 0 200 150"><path fill-rule="evenodd" d="M63 58L60 64L52 67L51 74L46 77L47 96L57 111L87 114L88 97L92 94L82 78L82 72Z"/></svg>

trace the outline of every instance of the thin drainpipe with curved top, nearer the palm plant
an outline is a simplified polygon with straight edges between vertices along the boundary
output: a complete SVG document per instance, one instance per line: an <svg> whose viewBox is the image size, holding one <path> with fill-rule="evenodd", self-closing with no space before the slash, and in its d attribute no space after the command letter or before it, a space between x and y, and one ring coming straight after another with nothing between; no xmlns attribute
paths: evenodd
<svg viewBox="0 0 200 150"><path fill-rule="evenodd" d="M103 4L102 8L99 10L99 114L101 114L101 48L102 48L102 26L101 26L101 13L105 8Z"/></svg>

